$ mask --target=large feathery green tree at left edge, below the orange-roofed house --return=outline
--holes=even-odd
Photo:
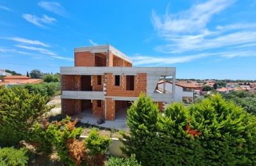
[[[26,89],[0,87],[0,146],[16,146],[29,137],[33,124],[54,107],[46,105],[49,101]]]

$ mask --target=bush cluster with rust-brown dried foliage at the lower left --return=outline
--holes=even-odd
[[[45,155],[56,149],[61,162],[65,165],[104,164],[105,153],[111,139],[99,137],[99,133],[93,129],[88,139],[79,141],[82,128],[76,128],[76,123],[77,119],[71,122],[70,117],[52,123],[44,120],[42,125],[35,124],[30,140],[36,145],[36,151]]]

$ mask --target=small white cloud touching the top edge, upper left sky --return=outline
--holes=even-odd
[[[51,11],[52,13],[56,13],[57,15],[61,15],[63,17],[67,15],[65,9],[61,6],[60,3],[42,1],[38,3],[38,5],[41,8],[44,8],[44,10]]]

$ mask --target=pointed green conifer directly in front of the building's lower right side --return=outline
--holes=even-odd
[[[145,145],[148,135],[156,135],[156,123],[158,119],[158,107],[152,102],[146,94],[140,94],[136,104],[127,110],[127,125],[130,128],[130,136],[122,133],[126,141],[121,140],[125,147],[121,147],[122,151],[131,156],[136,154],[140,158],[140,148]]]

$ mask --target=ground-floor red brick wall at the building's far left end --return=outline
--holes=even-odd
[[[61,99],[61,114],[74,116],[81,112],[81,100],[77,99]]]

